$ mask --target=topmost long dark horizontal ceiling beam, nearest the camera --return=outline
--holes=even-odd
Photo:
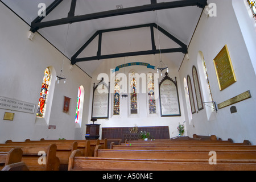
[[[183,0],[183,1],[171,1],[171,2],[163,2],[163,3],[151,3],[149,5],[137,6],[137,7],[128,7],[125,9],[118,10],[110,10],[104,11],[100,13],[79,15],[79,16],[71,16],[68,18],[50,20],[47,22],[32,22],[31,23],[31,31],[38,31],[40,28],[52,27],[61,24],[82,22],[86,20],[106,18],[111,16],[119,16],[119,15],[127,15],[134,13],[142,13],[146,11],[155,11],[155,10],[163,10],[163,9],[172,9],[177,7],[186,7],[186,6],[198,6],[204,8],[207,5],[207,0]]]

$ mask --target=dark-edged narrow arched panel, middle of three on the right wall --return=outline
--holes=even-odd
[[[199,84],[199,77],[198,77],[195,66],[193,66],[192,73],[193,73],[194,87],[196,92],[197,108],[198,110],[202,110],[204,109],[204,106],[203,106],[203,100],[202,100],[201,89]]]

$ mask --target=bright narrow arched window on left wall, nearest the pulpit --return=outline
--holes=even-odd
[[[75,122],[82,125],[82,107],[84,106],[84,87],[80,86],[77,95],[76,119]]]

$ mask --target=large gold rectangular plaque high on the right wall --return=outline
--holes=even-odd
[[[224,90],[237,81],[230,59],[228,46],[225,45],[224,48],[221,49],[213,62],[220,90]]]

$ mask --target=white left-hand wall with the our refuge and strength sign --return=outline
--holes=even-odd
[[[28,39],[30,27],[5,5],[0,3],[0,96],[38,104],[44,69],[53,68],[59,75],[63,56],[38,33]],[[56,84],[52,79],[50,91],[53,94],[49,119],[36,119],[34,114],[0,109],[0,143],[7,139],[84,139],[85,124],[88,119],[91,78],[80,68],[69,70],[70,61],[64,59],[64,75],[67,82]],[[82,129],[75,125],[77,91],[85,88],[84,115]],[[63,113],[64,96],[71,98],[69,113]],[[14,121],[3,120],[5,112],[14,113]],[[48,125],[56,125],[56,130],[48,130]]]

